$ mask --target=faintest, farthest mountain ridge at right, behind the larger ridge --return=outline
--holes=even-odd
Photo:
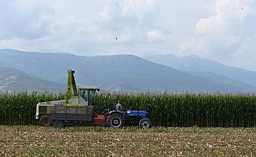
[[[234,68],[221,64],[214,60],[207,60],[196,55],[177,57],[173,54],[153,55],[142,57],[154,63],[163,64],[180,71],[210,72],[217,75],[224,75],[230,79],[245,82],[256,87],[256,71],[248,71],[243,68]],[[191,74],[191,73],[190,73]]]

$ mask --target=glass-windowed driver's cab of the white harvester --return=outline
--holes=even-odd
[[[78,90],[79,104],[93,105],[94,95],[99,91],[97,86],[81,86]]]

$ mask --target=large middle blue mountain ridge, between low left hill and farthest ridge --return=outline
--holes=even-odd
[[[13,49],[0,49],[0,54],[0,67],[16,68],[63,85],[66,85],[68,69],[71,68],[75,70],[78,86],[100,86],[101,91],[256,91],[255,87],[236,83],[236,80],[211,80],[133,55],[81,57],[68,53],[29,53]],[[55,87],[52,86],[53,89]]]

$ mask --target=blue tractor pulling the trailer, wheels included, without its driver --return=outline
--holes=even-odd
[[[134,125],[139,126],[141,129],[148,129],[152,127],[148,111],[139,111],[138,109],[135,111],[109,111],[107,124],[108,126],[115,128]]]

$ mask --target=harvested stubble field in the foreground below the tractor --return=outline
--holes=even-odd
[[[0,126],[1,156],[256,156],[256,128]]]

